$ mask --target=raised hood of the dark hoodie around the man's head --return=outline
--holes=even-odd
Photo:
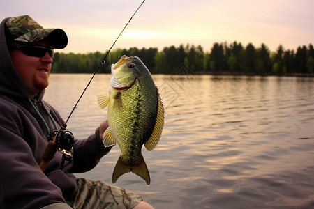
[[[0,94],[9,98],[27,99],[31,95],[14,68],[6,44],[6,20],[4,19],[0,24]],[[43,98],[44,92],[38,93],[38,100]]]

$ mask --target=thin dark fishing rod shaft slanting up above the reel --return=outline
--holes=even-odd
[[[145,0],[144,0],[145,1]],[[144,1],[142,1],[142,3],[140,4],[140,6],[137,8],[137,10],[135,10],[135,13],[133,13],[132,17],[130,17],[130,20],[128,20],[128,22],[126,23],[126,25],[124,26],[124,29],[126,29],[126,26],[128,26],[128,24],[131,22],[131,20],[133,19],[134,15],[137,13],[137,11],[140,9],[140,7],[142,6],[142,4],[144,3]],[[72,111],[70,112],[70,115],[68,116],[68,119],[66,119],[66,122],[64,122],[63,128],[66,128],[66,124],[68,123],[68,120],[70,119],[70,116],[72,116],[73,111],[77,108],[77,104],[80,102],[82,96],[84,95],[85,91],[87,90],[87,88],[89,87],[89,85],[91,85],[91,81],[94,79],[96,73],[98,72],[98,70],[100,69],[101,66],[103,66],[105,64],[105,59],[107,58],[110,50],[112,49],[112,47],[114,47],[114,45],[116,44],[117,40],[120,38],[121,34],[124,32],[124,29],[122,29],[122,31],[119,33],[119,36],[117,37],[116,40],[114,40],[112,46],[110,47],[110,49],[108,50],[108,52],[105,54],[105,56],[103,57],[103,60],[101,61],[101,63],[98,65],[98,68],[96,68],[96,71],[94,72],[94,75],[91,77],[91,79],[89,80],[89,83],[87,84],[87,86],[84,88],[84,91],[82,92],[82,94],[80,95],[80,98],[77,100],[75,106],[73,107]]]

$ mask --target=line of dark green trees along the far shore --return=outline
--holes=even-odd
[[[107,53],[107,52],[105,52]],[[52,72],[55,73],[94,73],[103,60],[105,53],[54,54]],[[214,75],[311,75],[314,68],[313,45],[300,46],[297,50],[285,50],[279,45],[276,52],[262,44],[255,47],[249,43],[244,47],[241,42],[214,43],[210,52],[202,46],[180,45],[157,48],[131,47],[115,49],[107,56],[100,72],[110,73],[110,65],[117,63],[122,55],[138,56],[154,74],[172,74],[182,63],[196,74]]]

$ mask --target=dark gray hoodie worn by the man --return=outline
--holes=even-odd
[[[47,164],[44,173],[40,170],[47,134],[55,129],[47,111],[57,128],[61,127],[63,119],[42,100],[44,91],[30,98],[11,62],[4,22],[0,24],[0,208],[70,208],[65,200],[77,190],[72,173],[94,168],[110,148],[103,146],[97,128],[87,139],[75,139],[73,160],[66,162],[63,170],[60,170],[62,154],[59,152]]]

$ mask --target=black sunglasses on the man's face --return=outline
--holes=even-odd
[[[43,57],[48,53],[51,58],[54,57],[54,49],[38,45],[10,45],[10,49],[22,49],[27,56]]]

